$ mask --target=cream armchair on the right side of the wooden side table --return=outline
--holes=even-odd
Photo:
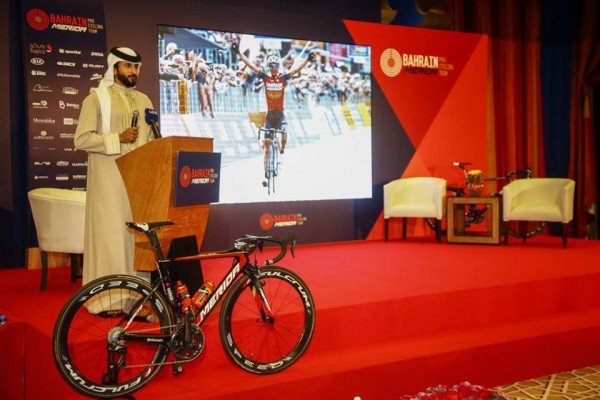
[[[575,181],[566,178],[517,179],[502,189],[502,219],[559,222],[563,247],[567,247],[568,223],[573,219]],[[525,237],[524,237],[525,239]],[[508,244],[508,235],[504,236]]]

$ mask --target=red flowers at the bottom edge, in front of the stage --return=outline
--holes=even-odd
[[[400,400],[509,400],[505,394],[483,386],[462,382],[452,387],[437,385],[418,394],[404,395]]]

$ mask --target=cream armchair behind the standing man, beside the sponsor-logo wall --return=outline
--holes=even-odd
[[[27,197],[42,256],[40,290],[46,290],[48,252],[71,254],[71,282],[75,282],[78,266],[82,265],[86,192],[39,188]]]

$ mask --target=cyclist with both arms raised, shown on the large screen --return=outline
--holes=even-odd
[[[264,128],[268,130],[265,134],[265,140],[263,141],[263,150],[265,154],[265,166],[269,155],[270,140],[273,139],[273,133],[270,129],[280,129],[282,131],[281,138],[281,150],[283,154],[285,145],[287,143],[287,123],[285,121],[285,115],[283,113],[283,100],[285,96],[285,88],[288,81],[292,76],[300,72],[302,68],[308,64],[309,61],[315,59],[318,55],[317,51],[312,51],[304,61],[302,61],[297,67],[291,69],[287,73],[280,73],[279,67],[281,66],[281,59],[279,56],[271,54],[267,56],[266,64],[269,73],[266,73],[254,65],[248,57],[240,52],[237,43],[231,44],[231,49],[240,57],[240,59],[250,68],[259,79],[264,82],[265,96],[267,99],[267,115],[265,118]]]

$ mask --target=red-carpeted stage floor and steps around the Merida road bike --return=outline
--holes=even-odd
[[[395,399],[434,384],[492,387],[600,363],[599,241],[536,237],[508,247],[432,238],[298,246],[280,264],[309,284],[317,327],[290,369],[256,376],[221,349],[217,315],[204,354],[163,368],[137,399]],[[204,265],[218,280],[218,265]],[[68,268],[0,271],[2,399],[80,398],[51,356],[54,321],[79,287]]]

